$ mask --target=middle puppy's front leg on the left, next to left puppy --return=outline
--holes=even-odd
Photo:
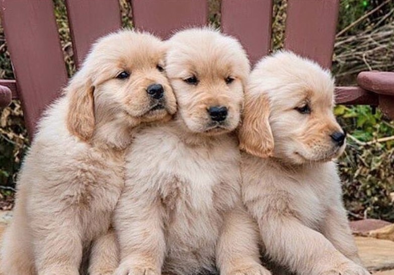
[[[159,275],[166,249],[160,200],[124,191],[114,225],[120,245],[115,274]]]

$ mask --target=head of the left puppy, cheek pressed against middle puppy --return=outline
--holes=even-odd
[[[169,119],[176,101],[164,73],[165,52],[164,42],[147,33],[99,39],[65,90],[69,131],[88,141],[106,122],[134,127]]]

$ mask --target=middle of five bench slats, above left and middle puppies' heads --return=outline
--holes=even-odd
[[[132,0],[131,3],[134,26],[163,39],[176,30],[207,24],[206,0]]]

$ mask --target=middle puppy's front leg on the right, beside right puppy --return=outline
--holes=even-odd
[[[271,275],[260,264],[259,235],[256,222],[241,207],[229,211],[216,248],[221,275]]]

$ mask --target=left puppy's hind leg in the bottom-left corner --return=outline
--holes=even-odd
[[[22,215],[17,205],[14,219],[7,229],[2,245],[2,259],[0,263],[3,275],[35,275],[34,256],[31,235],[26,216]]]

